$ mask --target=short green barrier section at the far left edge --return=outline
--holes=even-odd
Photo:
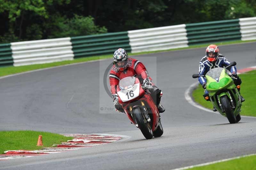
[[[12,49],[11,44],[0,44],[0,66],[12,66]]]

